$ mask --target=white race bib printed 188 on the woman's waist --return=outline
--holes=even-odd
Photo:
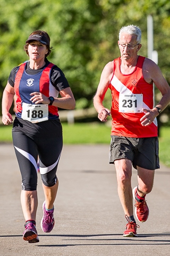
[[[48,120],[48,105],[47,104],[27,104],[22,103],[21,118],[31,123],[39,123]]]

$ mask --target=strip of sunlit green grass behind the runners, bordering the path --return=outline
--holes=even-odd
[[[68,125],[63,123],[63,138],[65,144],[109,144],[111,141],[111,127],[104,123],[75,123]],[[12,125],[0,126],[0,143],[12,142]],[[160,161],[170,167],[170,129],[162,127],[159,137]]]

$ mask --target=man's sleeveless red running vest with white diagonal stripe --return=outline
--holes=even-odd
[[[120,70],[121,58],[114,60],[113,76],[109,84],[112,92],[112,131],[111,135],[118,135],[132,138],[156,137],[157,119],[155,118],[149,126],[142,126],[140,118],[142,113],[122,113],[119,112],[119,95],[143,94],[143,108],[152,109],[154,107],[153,84],[145,81],[142,74],[142,66],[145,57],[139,56],[137,66],[131,74],[123,75]]]

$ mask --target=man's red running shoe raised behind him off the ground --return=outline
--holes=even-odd
[[[132,190],[133,198],[135,200],[135,216],[140,222],[145,222],[149,217],[149,208],[145,199],[142,202],[138,202],[137,199],[135,198],[137,188],[138,187],[134,187]]]

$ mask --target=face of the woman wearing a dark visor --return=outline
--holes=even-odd
[[[32,60],[41,60],[45,58],[48,53],[46,45],[40,43],[39,41],[32,41],[28,45],[29,57]]]

